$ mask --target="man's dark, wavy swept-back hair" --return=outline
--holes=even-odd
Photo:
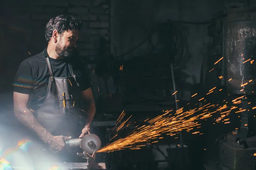
[[[49,42],[52,37],[53,30],[57,30],[59,34],[62,34],[67,30],[78,29],[80,31],[82,22],[72,15],[58,15],[49,20],[45,27],[45,38]]]

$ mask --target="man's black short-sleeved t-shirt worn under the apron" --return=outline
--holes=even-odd
[[[48,56],[46,49],[44,49],[44,53],[41,52],[21,62],[13,83],[15,92],[29,94],[29,108],[34,111],[38,109],[35,105],[43,104],[49,83],[50,74],[45,58],[45,54]],[[90,88],[90,79],[86,68],[77,59],[73,58],[70,61],[50,57],[49,59],[54,77],[72,77],[70,68],[70,64],[72,64],[77,82],[80,84],[80,91]]]

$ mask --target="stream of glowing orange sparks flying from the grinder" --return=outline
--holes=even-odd
[[[221,57],[223,59],[223,57]],[[214,64],[217,64],[219,61]],[[249,61],[249,60],[248,60]],[[254,60],[253,60],[254,61]],[[251,61],[251,64],[252,62]],[[213,68],[214,69],[214,68]],[[213,70],[212,69],[212,70]],[[209,72],[211,72],[210,70]],[[241,68],[240,68],[241,71]],[[220,79],[223,78],[223,76],[219,77]],[[249,82],[243,82],[244,79],[242,79],[241,83],[241,90],[243,90],[244,86],[248,83],[252,82],[250,80]],[[232,79],[229,79],[229,81],[232,81]],[[209,92],[206,95],[213,94],[213,91],[216,89],[216,87],[209,90]],[[221,91],[222,89],[219,89],[218,91]],[[177,92],[177,91],[176,91]],[[175,93],[176,93],[175,92]],[[192,95],[191,97],[196,96],[196,94]],[[228,94],[229,95],[229,94]],[[176,133],[178,133],[181,130],[185,130],[189,132],[190,130],[194,129],[195,127],[197,131],[195,131],[192,134],[203,134],[198,131],[198,128],[200,128],[199,123],[202,119],[207,119],[209,117],[212,117],[213,114],[218,114],[215,118],[215,122],[224,122],[224,124],[230,123],[230,118],[228,116],[230,113],[240,113],[246,111],[246,109],[238,108],[238,106],[234,106],[241,103],[241,98],[244,96],[241,96],[239,98],[236,98],[232,101],[232,104],[228,106],[228,102],[223,100],[222,103],[218,104],[211,104],[208,103],[204,105],[201,108],[195,108],[190,109],[189,111],[184,112],[183,108],[180,108],[176,111],[174,114],[169,114],[172,112],[172,110],[165,111],[164,114],[159,115],[155,117],[154,119],[146,119],[144,122],[146,122],[145,125],[138,127],[137,129],[133,130],[131,133],[129,133],[126,137],[116,140],[115,142],[112,142],[110,144],[107,144],[105,147],[101,148],[97,152],[113,152],[116,150],[124,150],[126,148],[130,148],[131,150],[137,150],[141,147],[145,146],[145,144],[152,144],[155,142],[158,142],[158,139],[162,139],[163,137],[160,137],[162,134],[166,134],[169,136],[174,136]],[[206,99],[201,98],[198,101],[201,101],[202,103],[206,102]],[[189,105],[189,103],[187,104]],[[256,106],[252,107],[252,109],[256,109]],[[212,110],[212,111],[210,111]],[[197,113],[200,111],[199,113]],[[249,111],[249,110],[248,110]],[[195,114],[197,113],[197,115]],[[125,116],[124,111],[121,113],[117,120],[117,124],[120,122],[120,120]],[[240,117],[240,116],[238,116]],[[130,119],[131,116],[128,118]],[[128,119],[125,121],[127,122]],[[116,132],[120,131],[123,127],[127,126],[125,125],[125,122],[122,123],[119,127],[117,127],[117,124],[114,129],[116,129]],[[130,122],[129,122],[130,123]],[[215,124],[215,123],[213,123]],[[116,128],[117,127],[117,128]],[[137,126],[136,126],[137,127]],[[238,129],[238,128],[236,128]],[[116,134],[117,136],[117,134]],[[115,138],[114,136],[113,138]],[[112,139],[113,139],[112,138]],[[178,138],[178,137],[176,137]],[[176,139],[175,138],[175,139]]]

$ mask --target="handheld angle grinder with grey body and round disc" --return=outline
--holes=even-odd
[[[80,147],[86,153],[94,153],[101,147],[101,141],[95,134],[87,134],[82,139],[70,139],[65,143],[69,147]]]

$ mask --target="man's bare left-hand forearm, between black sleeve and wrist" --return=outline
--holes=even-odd
[[[35,118],[33,113],[29,109],[15,109],[15,117],[23,125],[33,130],[45,143],[51,142],[53,136],[50,134]]]

